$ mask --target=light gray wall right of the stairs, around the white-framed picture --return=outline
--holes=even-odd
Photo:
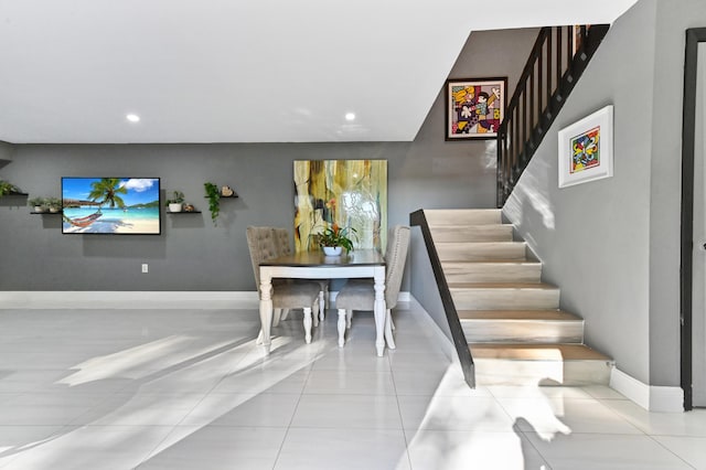
[[[616,21],[504,207],[587,343],[651,385],[680,384],[684,31],[698,24],[700,0],[642,0]],[[613,178],[557,189],[557,131],[608,104]]]

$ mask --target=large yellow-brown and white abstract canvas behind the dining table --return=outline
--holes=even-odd
[[[295,161],[295,249],[315,250],[312,235],[336,224],[354,232],[355,249],[385,250],[386,160]]]

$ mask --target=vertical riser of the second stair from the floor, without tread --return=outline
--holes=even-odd
[[[582,343],[582,321],[461,320],[469,343]]]

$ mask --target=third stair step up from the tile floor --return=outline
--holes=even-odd
[[[559,288],[544,282],[451,282],[457,310],[555,310]]]

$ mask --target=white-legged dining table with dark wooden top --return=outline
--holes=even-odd
[[[349,279],[373,278],[375,288],[375,349],[385,352],[385,258],[375,249],[356,249],[340,256],[324,256],[323,252],[299,252],[260,263],[260,322],[263,345],[269,353],[272,325],[272,278]]]

